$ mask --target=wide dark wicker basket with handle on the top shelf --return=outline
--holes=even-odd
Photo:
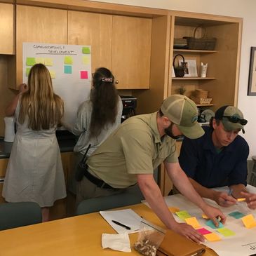
[[[203,29],[203,36],[196,38],[196,30],[201,27]],[[194,36],[184,36],[187,39],[187,48],[190,50],[214,50],[217,39],[215,37],[206,37],[206,28],[198,26],[194,30]]]

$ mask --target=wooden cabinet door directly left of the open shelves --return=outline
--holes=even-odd
[[[149,88],[151,19],[113,16],[112,72],[116,88]]]

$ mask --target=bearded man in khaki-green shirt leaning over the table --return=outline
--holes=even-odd
[[[154,170],[164,163],[170,179],[184,196],[216,224],[216,217],[225,221],[219,209],[208,206],[196,193],[178,163],[175,138],[203,135],[197,116],[193,101],[184,95],[172,95],[163,101],[159,112],[133,116],[123,122],[88,158],[88,170],[78,186],[78,201],[120,193],[137,183],[166,227],[196,242],[203,241],[203,236],[191,226],[174,220],[153,177]]]

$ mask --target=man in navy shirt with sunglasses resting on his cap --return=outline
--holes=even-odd
[[[217,109],[210,127],[196,139],[184,138],[180,151],[180,166],[187,173],[198,194],[220,206],[233,206],[236,198],[246,198],[248,207],[256,208],[256,195],[246,190],[249,147],[238,135],[247,120],[233,106]],[[229,193],[212,188],[229,186]]]

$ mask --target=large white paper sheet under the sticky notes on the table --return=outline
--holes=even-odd
[[[250,185],[247,186],[248,191],[256,194],[256,187],[252,187]],[[228,187],[217,188],[219,191],[229,191]],[[222,238],[221,241],[217,242],[209,242],[205,241],[205,244],[212,248],[217,252],[220,256],[248,256],[256,253],[256,227],[252,229],[247,229],[244,227],[241,219],[235,219],[234,217],[229,216],[229,213],[234,211],[239,211],[245,215],[252,213],[252,215],[256,218],[256,210],[250,210],[245,202],[236,203],[235,206],[231,206],[229,208],[223,208],[217,205],[214,201],[210,199],[204,199],[209,205],[220,208],[224,215],[227,216],[227,221],[224,224],[224,227],[227,227],[231,231],[236,233],[235,236],[225,237],[222,236],[216,229],[212,229],[206,225],[206,220],[204,220],[202,215],[202,210],[191,203],[187,198],[182,196],[182,194],[176,194],[173,196],[165,196],[165,201],[168,207],[178,207],[180,210],[187,210],[187,212],[196,217],[198,222],[202,227],[208,229],[216,233],[218,236]],[[142,203],[149,206],[146,201],[142,201]],[[175,214],[173,215],[177,222],[183,222],[177,217]]]

